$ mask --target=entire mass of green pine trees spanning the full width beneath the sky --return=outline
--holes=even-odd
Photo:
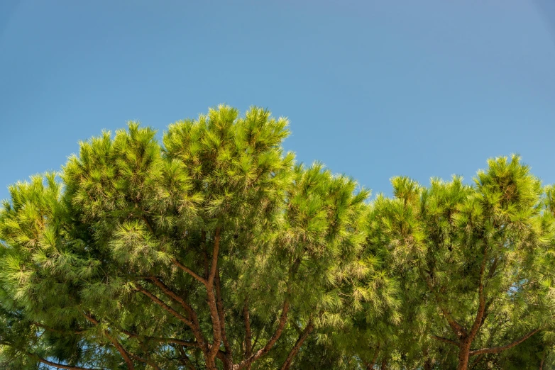
[[[392,198],[219,106],[80,142],[0,211],[9,369],[549,369],[555,188],[520,157]],[[554,367],[555,368],[555,367]]]

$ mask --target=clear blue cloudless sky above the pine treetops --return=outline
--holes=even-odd
[[[555,1],[0,1],[0,198],[127,120],[229,103],[374,193],[520,153],[555,183]]]

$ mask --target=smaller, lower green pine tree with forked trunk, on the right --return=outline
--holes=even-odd
[[[549,325],[553,214],[520,158],[490,159],[473,186],[460,177],[424,188],[392,179],[395,198],[373,207],[373,244],[387,245],[398,274],[428,306],[428,335],[456,348],[441,368],[467,369]],[[430,309],[431,308],[431,309]],[[451,362],[452,361],[452,362]]]

